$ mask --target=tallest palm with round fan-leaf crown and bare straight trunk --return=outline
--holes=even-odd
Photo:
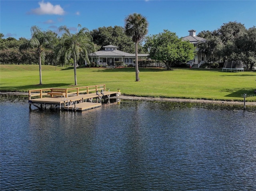
[[[138,68],[138,42],[143,39],[148,33],[148,21],[146,17],[141,14],[133,13],[128,15],[125,19],[125,33],[127,36],[132,37],[135,42],[135,72],[136,81],[140,81],[139,68]]]

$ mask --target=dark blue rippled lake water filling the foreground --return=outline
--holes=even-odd
[[[255,191],[256,112],[121,100],[84,112],[1,101],[0,190]]]

